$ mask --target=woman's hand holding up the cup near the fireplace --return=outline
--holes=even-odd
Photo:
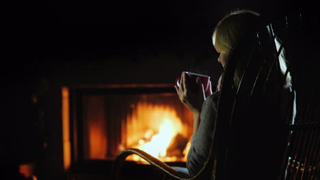
[[[183,72],[180,80],[180,88],[176,85],[176,93],[178,93],[181,102],[191,110],[194,115],[200,115],[202,104],[205,100],[204,88],[200,78],[196,79],[196,84],[192,85],[189,76]],[[196,87],[191,90],[191,87]]]

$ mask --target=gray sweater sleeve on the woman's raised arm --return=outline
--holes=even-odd
[[[213,141],[218,97],[219,92],[215,92],[207,97],[202,105],[198,131],[191,136],[191,147],[187,155],[187,169],[190,175],[196,175],[209,156],[210,145]]]

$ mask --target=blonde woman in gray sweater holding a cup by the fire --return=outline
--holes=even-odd
[[[222,20],[219,21],[215,31],[213,32],[213,46],[215,50],[219,52],[217,61],[222,64],[222,67],[226,67],[227,59],[232,50],[232,46],[237,44],[241,40],[241,36],[252,27],[252,22],[259,20],[259,14],[249,10],[238,10],[231,12]],[[249,27],[249,28],[248,28]],[[276,48],[278,49],[278,41],[276,40]],[[295,116],[295,104],[290,100],[291,98],[291,76],[290,73],[286,74],[286,61],[284,59],[283,50],[279,57],[279,66],[281,77],[285,78],[284,85],[279,87],[282,91],[282,101],[280,108],[291,106],[292,116],[287,117],[284,110],[280,112],[282,119],[293,119]],[[241,60],[239,62],[241,63]],[[271,66],[271,62],[267,62],[267,65]],[[272,79],[278,74],[265,74]],[[254,79],[255,77],[252,77]],[[235,85],[239,85],[241,75],[235,72]],[[193,82],[190,82],[186,74],[183,72],[181,76],[180,88],[176,87],[176,92],[181,102],[191,110],[194,115],[194,130],[191,136],[191,147],[187,155],[187,172],[189,175],[196,175],[200,169],[204,166],[204,162],[209,156],[209,149],[211,142],[213,141],[213,130],[215,127],[215,115],[217,114],[217,100],[219,97],[219,91],[211,94],[209,97],[205,97],[203,86],[200,78],[197,79],[198,92],[189,91]],[[275,89],[277,89],[275,87]],[[275,91],[278,91],[275,90]],[[277,97],[273,97],[276,99]],[[180,170],[180,169],[179,169]],[[209,174],[211,170],[208,170]]]

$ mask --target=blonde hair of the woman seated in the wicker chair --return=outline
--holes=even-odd
[[[236,10],[230,12],[222,20],[219,21],[215,27],[213,33],[213,46],[217,52],[229,53],[234,46],[241,38],[243,33],[249,31],[249,28],[252,28],[252,23],[257,22],[260,14],[251,10]],[[267,29],[271,33],[270,29]],[[276,50],[280,48],[280,42],[278,38],[274,38],[276,45]],[[282,48],[279,55],[280,70],[284,76],[286,72],[286,59],[284,57],[284,48]],[[288,72],[286,75],[286,80],[284,82],[284,87],[289,87],[291,85],[291,75]]]

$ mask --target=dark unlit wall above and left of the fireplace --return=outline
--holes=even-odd
[[[273,19],[314,7],[265,0],[10,2],[1,28],[8,175],[36,162],[46,179],[63,177],[62,86],[171,84],[183,71],[208,74],[215,86],[222,67],[211,34],[227,12],[245,8]]]

